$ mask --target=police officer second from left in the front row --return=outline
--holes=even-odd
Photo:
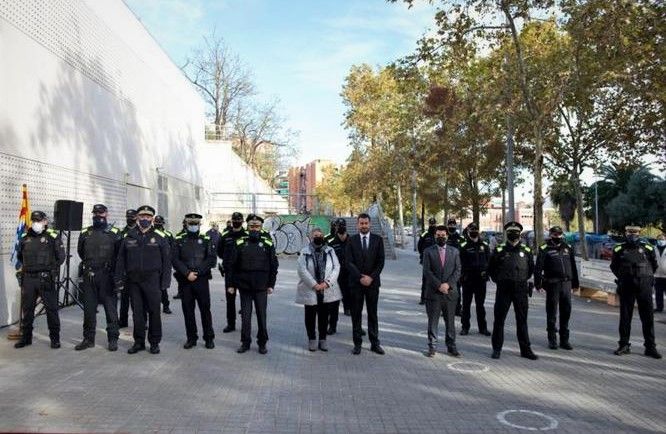
[[[120,229],[109,226],[107,208],[92,209],[92,226],[79,235],[77,251],[83,264],[83,341],[77,351],[95,346],[97,305],[104,306],[109,351],[118,349],[118,296],[113,285],[113,270],[120,247]]]

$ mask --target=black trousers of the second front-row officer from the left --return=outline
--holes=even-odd
[[[113,275],[109,270],[86,272],[83,278],[83,338],[95,342],[97,329],[97,306],[104,306],[106,315],[106,337],[117,341],[118,296],[113,289]]]

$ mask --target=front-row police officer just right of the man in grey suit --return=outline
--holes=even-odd
[[[523,231],[520,223],[509,222],[504,225],[504,230],[506,241],[495,248],[488,264],[488,275],[497,284],[492,358],[500,358],[504,344],[504,321],[513,303],[520,356],[536,360],[538,357],[532,352],[527,331],[527,280],[534,272],[532,249],[520,241],[520,233]]]

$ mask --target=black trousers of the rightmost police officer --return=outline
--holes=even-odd
[[[642,288],[621,288],[620,296],[620,346],[629,344],[631,336],[631,318],[634,315],[634,303],[638,304],[638,315],[643,326],[643,339],[645,348],[655,348],[654,341],[654,313],[652,311],[652,287],[645,285]]]

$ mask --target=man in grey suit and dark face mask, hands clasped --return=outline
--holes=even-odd
[[[425,282],[425,302],[428,312],[428,357],[437,351],[437,329],[439,316],[444,316],[446,324],[446,348],[448,353],[459,357],[456,348],[455,311],[460,298],[460,254],[458,249],[447,245],[446,226],[437,226],[436,244],[423,251],[423,280]]]

